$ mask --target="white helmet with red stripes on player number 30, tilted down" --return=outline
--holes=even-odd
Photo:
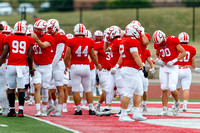
[[[157,30],[153,33],[153,42],[154,44],[161,45],[166,41],[165,33],[161,30]]]

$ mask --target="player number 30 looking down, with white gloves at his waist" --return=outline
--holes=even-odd
[[[184,48],[180,45],[178,37],[169,36],[166,38],[165,33],[157,30],[153,34],[154,48],[156,49],[156,63],[160,65],[159,79],[162,90],[163,111],[160,116],[168,115],[168,89],[174,100],[175,107],[173,115],[179,114],[180,102],[179,94],[176,90],[178,82],[178,64],[177,62],[186,56]],[[180,54],[179,54],[180,52]]]

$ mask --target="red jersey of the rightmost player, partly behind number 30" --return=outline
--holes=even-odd
[[[178,61],[178,65],[191,65],[192,58],[196,55],[196,49],[193,46],[181,44],[185,49],[186,56]]]

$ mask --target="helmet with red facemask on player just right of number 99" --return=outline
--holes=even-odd
[[[47,30],[47,22],[40,19],[38,21],[35,22],[34,26],[33,26],[33,31],[34,33],[41,37],[46,33]]]

